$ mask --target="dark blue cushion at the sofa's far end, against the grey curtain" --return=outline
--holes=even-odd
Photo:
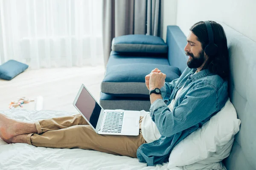
[[[162,38],[143,34],[123,35],[113,38],[111,49],[130,53],[167,53],[167,45]]]

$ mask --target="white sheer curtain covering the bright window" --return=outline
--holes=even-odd
[[[102,0],[0,0],[0,63],[103,64]]]

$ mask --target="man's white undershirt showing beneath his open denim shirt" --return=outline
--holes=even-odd
[[[170,109],[170,111],[173,110],[175,100],[177,99],[177,96],[179,96],[180,91],[182,91],[184,85],[177,91],[175,97],[172,99],[172,102],[168,105],[168,108]],[[141,116],[143,116],[142,111],[141,111]],[[160,132],[157,129],[156,124],[151,119],[151,116],[150,116],[149,112],[146,112],[145,116],[142,119],[141,133],[142,133],[142,136],[145,139],[145,141],[148,142],[148,143],[153,142],[153,141],[155,141],[155,140],[157,140],[161,137]]]

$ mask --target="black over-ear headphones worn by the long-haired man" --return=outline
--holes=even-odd
[[[204,48],[204,52],[207,54],[207,56],[213,56],[217,53],[218,46],[214,43],[211,23],[209,21],[204,21],[204,23],[206,25],[209,38],[209,44],[207,44]]]

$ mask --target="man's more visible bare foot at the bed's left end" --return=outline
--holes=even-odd
[[[9,119],[3,114],[0,114],[0,138],[7,143],[12,143],[11,139],[14,136],[23,134],[23,124],[23,122]]]

